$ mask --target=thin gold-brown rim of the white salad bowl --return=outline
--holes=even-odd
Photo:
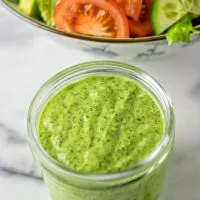
[[[8,0],[0,0],[0,4],[5,7],[10,13],[14,14],[15,16],[19,17],[20,19],[32,24],[33,26],[45,30],[50,33],[55,33],[60,36],[66,36],[71,39],[79,39],[79,40],[86,40],[91,42],[99,42],[99,43],[143,43],[143,42],[153,42],[153,41],[164,41],[166,40],[165,35],[158,35],[158,36],[148,36],[148,37],[140,37],[140,38],[129,38],[129,39],[116,39],[116,38],[101,38],[101,37],[94,37],[94,36],[87,36],[83,34],[77,33],[66,33],[59,31],[53,27],[48,26],[47,24],[39,21],[33,17],[26,16],[18,9],[16,9],[16,5]],[[200,25],[195,26],[197,30],[200,30]]]

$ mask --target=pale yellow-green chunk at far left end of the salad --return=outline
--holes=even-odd
[[[20,0],[19,9],[28,16],[38,17],[39,10],[36,0]]]

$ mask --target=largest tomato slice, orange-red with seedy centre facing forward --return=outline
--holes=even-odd
[[[54,21],[65,32],[129,38],[128,19],[115,0],[60,0]]]

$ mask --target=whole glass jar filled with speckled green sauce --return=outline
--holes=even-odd
[[[157,200],[174,113],[163,88],[140,69],[88,62],[44,84],[28,133],[52,200]]]

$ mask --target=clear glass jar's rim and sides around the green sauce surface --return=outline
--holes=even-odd
[[[38,142],[38,116],[45,102],[63,86],[91,75],[120,75],[133,79],[153,95],[163,112],[166,126],[160,144],[131,169],[110,174],[76,173],[57,164]],[[30,147],[53,200],[156,200],[164,185],[174,127],[173,107],[164,89],[144,71],[112,61],[82,63],[61,71],[41,87],[28,114]]]

